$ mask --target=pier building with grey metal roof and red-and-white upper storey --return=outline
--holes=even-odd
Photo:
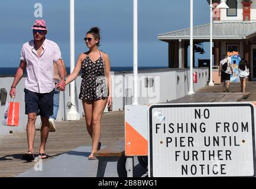
[[[251,65],[250,79],[256,80],[256,0],[227,0],[229,9],[216,9],[221,1],[212,2],[213,65],[218,66],[228,51],[239,51]],[[200,44],[210,40],[210,24],[194,27],[193,35],[194,53],[200,52]],[[159,34],[157,38],[168,43],[168,67],[187,67],[190,29]]]

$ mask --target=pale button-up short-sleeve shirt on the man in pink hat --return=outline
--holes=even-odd
[[[59,46],[51,40],[44,40],[40,57],[34,48],[34,40],[22,45],[21,60],[27,63],[25,89],[36,93],[49,93],[54,89],[53,64],[61,58]]]

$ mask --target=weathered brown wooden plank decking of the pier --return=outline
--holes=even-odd
[[[247,83],[247,92],[250,95],[241,101],[256,101],[256,82]],[[239,95],[239,83],[231,83],[230,94]],[[207,95],[206,93],[210,94]],[[213,98],[218,100],[220,97],[228,95],[222,93],[222,85],[213,87],[206,86],[199,90],[194,99],[185,97],[193,102],[202,102],[200,95],[204,95],[206,102],[213,102]],[[196,101],[198,99],[199,101]],[[118,138],[124,137],[124,111],[105,113],[102,117],[102,146],[106,146]],[[35,136],[34,152],[37,153],[40,144],[40,131]],[[44,159],[48,161],[70,151],[78,146],[91,145],[91,139],[86,131],[85,119],[77,121],[57,122],[56,132],[50,132],[47,140],[46,152],[51,157]],[[25,162],[21,160],[22,154],[27,151],[27,136],[24,132],[15,132],[9,135],[0,136],[0,177],[14,177],[30,168],[34,167],[35,162]]]

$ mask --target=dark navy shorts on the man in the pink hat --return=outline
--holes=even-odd
[[[53,115],[53,93],[35,93],[28,89],[25,92],[25,114],[37,113],[37,116],[50,117]]]

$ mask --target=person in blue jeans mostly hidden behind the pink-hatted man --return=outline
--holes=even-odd
[[[63,60],[61,60],[61,63],[63,64],[64,68],[65,68],[65,77],[67,76],[67,70],[66,70],[66,66],[63,62]],[[58,73],[58,67],[57,64],[54,64],[54,83],[58,84],[60,82],[60,76]],[[55,88],[54,89],[54,94],[53,94],[53,115],[50,116],[49,118],[49,123],[50,123],[50,132],[55,132],[56,131],[56,124],[55,124],[55,120],[57,118],[57,114],[59,111],[59,103],[60,103],[60,90]]]

